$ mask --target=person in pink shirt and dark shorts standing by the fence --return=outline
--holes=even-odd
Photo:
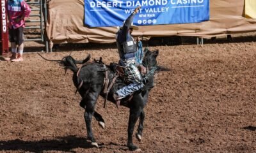
[[[5,60],[20,62],[23,61],[23,29],[25,27],[25,17],[29,17],[31,9],[24,0],[8,0],[7,7],[9,40],[11,42],[12,56],[5,58]]]

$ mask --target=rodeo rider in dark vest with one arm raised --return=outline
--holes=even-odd
[[[124,66],[126,79],[131,84],[119,89],[113,94],[113,98],[116,101],[116,107],[120,105],[120,100],[126,96],[132,94],[135,91],[140,90],[143,87],[142,77],[138,67],[143,73],[145,73],[145,67],[139,64],[135,60],[137,46],[136,41],[132,38],[132,31],[138,30],[138,27],[132,24],[133,17],[140,10],[141,6],[138,6],[131,15],[125,20],[124,25],[120,27],[120,30],[116,33],[116,45],[119,53],[120,66]]]

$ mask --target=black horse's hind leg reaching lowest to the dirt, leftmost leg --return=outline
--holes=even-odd
[[[95,104],[98,98],[97,92],[89,92],[84,100],[86,101],[86,108],[84,113],[84,120],[86,123],[87,139],[92,142],[92,145],[99,147],[95,141],[92,131],[92,116],[94,113]]]

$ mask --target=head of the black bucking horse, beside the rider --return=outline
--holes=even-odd
[[[156,58],[159,54],[159,50],[150,51],[148,48],[145,48],[144,52],[143,66],[147,68],[147,74],[145,76],[147,88],[152,89],[154,87],[154,75],[158,69]]]

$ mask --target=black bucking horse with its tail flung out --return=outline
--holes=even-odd
[[[159,69],[159,66],[157,66],[157,55],[159,54],[159,51],[150,51],[148,48],[145,48],[144,52],[143,66],[147,68],[144,81],[145,85],[140,91],[134,92],[131,96],[120,101],[121,106],[126,106],[130,110],[127,129],[127,147],[129,150],[140,150],[133,144],[132,134],[136,121],[140,119],[137,129],[138,131],[135,136],[139,142],[141,141],[143,122],[145,119],[143,108],[145,108],[145,105],[147,104],[150,90],[154,87],[154,75]],[[44,58],[42,55],[40,56]],[[115,67],[112,66],[113,64],[108,66],[102,62],[101,58],[99,60],[90,61],[90,54],[83,61],[76,61],[70,55],[64,57],[62,60],[45,60],[56,61],[60,66],[63,66],[66,71],[67,69],[70,69],[74,72],[73,82],[77,89],[76,92],[79,92],[82,98],[80,106],[85,109],[84,120],[86,122],[87,139],[92,142],[93,146],[99,147],[93,136],[92,117],[95,117],[103,129],[105,128],[105,122],[102,116],[95,111],[97,99],[99,96],[102,96],[103,98],[108,99],[108,101],[115,103],[113,94],[118,91],[118,89],[127,85],[127,83],[124,82],[124,78],[116,77],[117,72],[115,71],[115,68],[113,68]],[[80,68],[77,68],[77,64],[83,65]],[[113,81],[114,79],[115,81]],[[107,87],[106,82],[110,83]]]

